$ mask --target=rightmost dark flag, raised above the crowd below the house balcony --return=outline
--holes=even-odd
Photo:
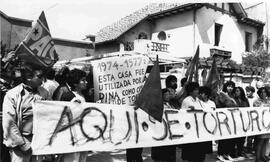
[[[211,67],[211,69],[209,71],[209,75],[206,79],[205,86],[210,87],[212,89],[213,93],[216,93],[219,89],[220,77],[219,77],[219,73],[217,70],[217,63],[216,63],[215,58],[213,58],[212,67]]]

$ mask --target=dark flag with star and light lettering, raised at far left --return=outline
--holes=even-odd
[[[26,63],[42,68],[51,67],[58,60],[43,11],[31,31],[15,50],[15,55]]]

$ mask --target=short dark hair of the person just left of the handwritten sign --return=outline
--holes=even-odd
[[[83,77],[86,77],[85,71],[79,69],[73,69],[70,71],[67,82],[71,87],[71,90],[75,89],[75,84],[78,84]]]

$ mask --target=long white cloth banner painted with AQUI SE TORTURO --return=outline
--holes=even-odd
[[[131,106],[40,101],[33,105],[33,154],[184,144],[269,133],[270,108],[213,112],[165,109],[159,123]]]

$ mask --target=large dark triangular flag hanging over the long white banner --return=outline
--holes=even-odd
[[[157,60],[135,101],[135,105],[157,121],[161,122],[164,107],[158,62],[159,60],[157,56]]]

